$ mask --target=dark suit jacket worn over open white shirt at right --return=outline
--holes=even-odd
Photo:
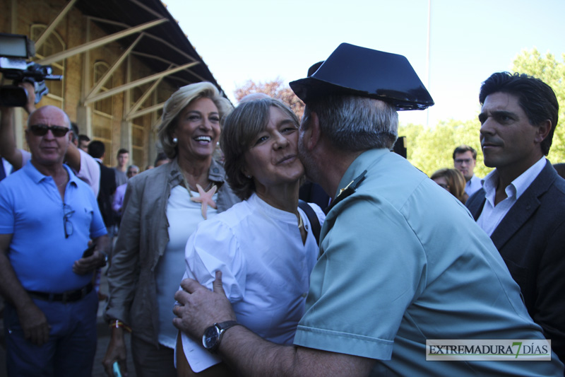
[[[477,220],[484,190],[465,205]],[[530,316],[565,361],[565,180],[549,161],[491,239],[520,286]]]

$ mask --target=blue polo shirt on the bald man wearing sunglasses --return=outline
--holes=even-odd
[[[28,291],[61,293],[88,284],[92,274],[75,274],[73,263],[90,238],[106,234],[93,191],[64,168],[64,201],[53,178],[31,161],[0,182],[0,234],[12,234],[8,258]]]

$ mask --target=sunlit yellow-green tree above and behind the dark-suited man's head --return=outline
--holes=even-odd
[[[551,86],[559,101],[559,122],[553,136],[552,148],[549,150],[549,161],[565,162],[565,54],[561,54],[561,62],[553,54],[547,52],[542,56],[535,48],[523,50],[516,56],[512,70],[521,74],[529,74],[541,79]]]

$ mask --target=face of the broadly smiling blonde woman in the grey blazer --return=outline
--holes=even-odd
[[[206,159],[220,139],[220,113],[210,98],[198,98],[179,114],[172,137],[178,139],[179,157]]]

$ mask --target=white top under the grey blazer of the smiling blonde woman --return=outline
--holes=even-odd
[[[193,197],[200,196],[192,192]],[[218,199],[218,193],[212,199]],[[208,219],[218,214],[217,209],[208,206]],[[169,242],[165,253],[161,255],[155,268],[155,284],[157,286],[157,306],[159,311],[159,343],[174,348],[179,330],[172,324],[175,315],[172,313],[174,294],[179,289],[179,282],[184,274],[184,248],[186,240],[204,221],[201,203],[191,201],[189,192],[181,185],[171,189],[167,202],[167,221],[169,223]]]

